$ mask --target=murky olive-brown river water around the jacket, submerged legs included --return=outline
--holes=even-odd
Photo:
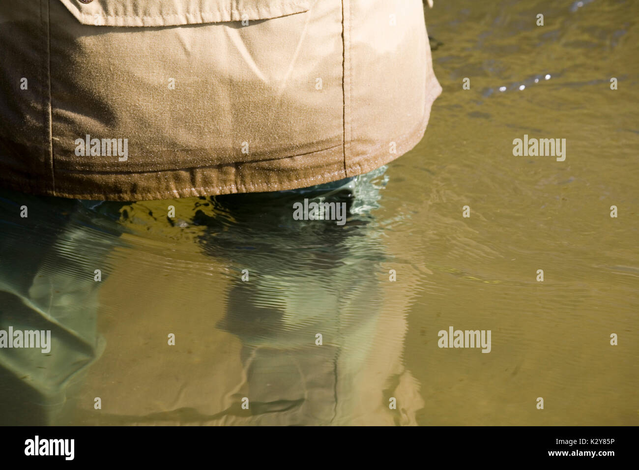
[[[336,191],[3,193],[0,329],[52,344],[0,350],[0,421],[639,424],[638,13],[436,1],[426,136]],[[566,160],[514,156],[524,134]],[[344,226],[292,219],[318,194]],[[438,347],[451,326],[490,330],[490,352]]]

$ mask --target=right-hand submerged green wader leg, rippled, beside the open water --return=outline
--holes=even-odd
[[[249,274],[240,282],[238,272],[218,327],[242,341],[243,375],[233,397],[249,398],[252,416],[235,413],[225,423],[399,422],[382,396],[385,389],[396,395],[399,357],[367,363],[371,348],[385,347],[373,340],[385,303],[374,273],[386,255],[368,210],[376,207],[384,170],[305,191],[218,196],[210,210],[196,212],[206,253]],[[345,203],[346,226],[293,220],[293,203],[302,198]],[[401,342],[405,328],[404,319],[387,322],[387,343]],[[376,373],[364,378],[370,368]],[[362,400],[364,388],[378,393]],[[400,403],[402,421],[414,423],[419,400]]]

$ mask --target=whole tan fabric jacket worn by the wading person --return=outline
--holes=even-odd
[[[441,92],[420,0],[2,2],[0,43],[0,185],[52,196],[339,180],[417,144]]]

